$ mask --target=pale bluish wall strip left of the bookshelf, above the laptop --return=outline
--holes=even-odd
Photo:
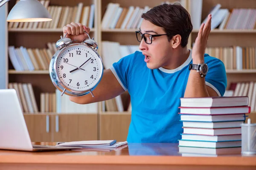
[[[7,88],[7,74],[8,68],[6,55],[7,55],[7,4],[0,7],[0,89]]]

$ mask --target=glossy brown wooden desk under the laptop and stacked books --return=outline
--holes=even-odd
[[[256,170],[254,156],[184,157],[177,144],[128,144],[120,150],[0,150],[0,170]]]

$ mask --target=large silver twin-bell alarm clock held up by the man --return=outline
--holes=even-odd
[[[52,83],[62,92],[61,96],[83,96],[90,93],[94,97],[92,91],[103,75],[102,59],[96,52],[98,45],[89,34],[81,43],[73,43],[76,40],[66,35],[56,42],[58,51],[49,65]]]

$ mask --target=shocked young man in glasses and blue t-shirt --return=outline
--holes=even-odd
[[[185,8],[163,4],[142,17],[140,31],[136,32],[142,52],[123,57],[104,71],[93,91],[95,97],[70,96],[70,100],[80,104],[99,102],[128,90],[132,113],[127,141],[178,142],[183,132],[178,114],[180,97],[223,96],[227,86],[224,64],[204,54],[211,15],[201,25],[192,51],[186,47],[192,23]],[[71,23],[63,32],[81,41],[86,37],[83,29],[90,31],[80,23]]]

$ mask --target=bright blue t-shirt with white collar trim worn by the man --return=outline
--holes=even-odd
[[[149,69],[142,52],[123,57],[113,63],[111,71],[120,85],[131,96],[131,123],[128,130],[129,143],[177,143],[183,133],[180,121],[180,97],[184,96],[189,77],[192,51],[186,62],[178,68]],[[221,60],[204,55],[209,71],[206,85],[223,96],[227,77]]]

